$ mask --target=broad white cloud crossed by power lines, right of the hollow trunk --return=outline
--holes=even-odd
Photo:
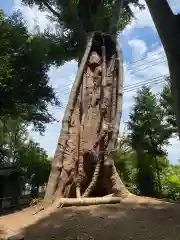
[[[133,40],[131,40],[133,41]],[[143,44],[142,44],[143,45]],[[134,44],[134,51],[139,51],[139,45]],[[125,90],[124,108],[130,108],[133,104],[133,95],[143,85],[149,83],[155,93],[160,92],[164,85],[163,76],[168,75],[167,60],[162,47],[156,47],[148,52],[142,61],[124,65]],[[157,82],[159,77],[159,82]],[[130,85],[134,87],[129,88]],[[140,85],[139,85],[140,84]],[[128,90],[130,89],[130,91]]]

